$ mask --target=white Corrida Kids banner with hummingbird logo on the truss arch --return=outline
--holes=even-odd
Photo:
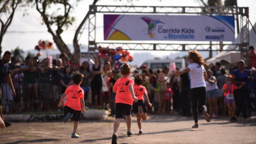
[[[104,15],[104,40],[235,41],[234,16]]]

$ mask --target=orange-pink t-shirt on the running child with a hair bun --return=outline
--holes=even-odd
[[[129,92],[129,85],[133,86],[134,81],[127,77],[121,77],[116,81],[113,87],[113,90],[116,91],[116,103],[132,105],[133,99]]]

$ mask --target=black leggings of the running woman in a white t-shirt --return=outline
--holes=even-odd
[[[193,116],[195,123],[198,122],[197,116],[198,116],[198,106],[202,111],[207,111],[207,108],[205,106],[206,104],[206,88],[205,87],[197,87],[190,89],[190,97],[192,101],[192,110],[193,110]]]

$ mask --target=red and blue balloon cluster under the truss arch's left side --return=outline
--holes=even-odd
[[[116,50],[107,48],[102,48],[101,46],[98,47],[99,55],[102,58],[112,57],[113,60],[121,59],[122,62],[132,61],[133,55],[130,55],[130,52],[127,50],[123,50],[122,47],[117,47]]]

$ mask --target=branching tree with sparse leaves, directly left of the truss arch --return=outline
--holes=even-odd
[[[76,1],[78,2],[80,0]],[[41,14],[43,22],[48,32],[52,35],[53,41],[58,49],[61,53],[65,52],[68,57],[72,58],[72,53],[60,36],[63,28],[67,29],[75,21],[75,17],[70,16],[73,6],[69,2],[70,0],[35,0],[36,10]],[[46,12],[51,6],[57,5],[64,7],[64,13],[62,15],[59,14],[60,8],[51,12],[51,14]],[[53,29],[54,27],[56,27],[56,30]]]

